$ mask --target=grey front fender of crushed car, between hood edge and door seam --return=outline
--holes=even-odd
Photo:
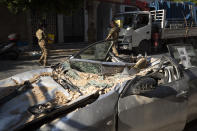
[[[101,95],[94,103],[76,109],[65,117],[42,126],[39,130],[111,130],[115,126],[115,107],[119,97],[117,88],[120,88],[120,86],[107,94]]]

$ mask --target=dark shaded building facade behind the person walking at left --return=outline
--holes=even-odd
[[[55,43],[94,42],[107,36],[109,23],[114,14],[124,11],[123,4],[133,4],[130,0],[84,0],[84,6],[77,12],[47,14],[47,33],[55,35]],[[21,41],[36,45],[35,32],[40,19],[39,12],[11,14],[6,7],[0,7],[0,41],[6,41],[10,33],[18,33]]]

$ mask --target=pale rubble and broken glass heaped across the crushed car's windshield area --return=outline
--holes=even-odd
[[[89,95],[103,89],[102,94],[105,94],[111,91],[117,84],[122,84],[124,81],[134,78],[136,75],[146,75],[150,70],[151,68],[142,69],[135,75],[115,74],[111,76],[101,76],[93,73],[79,72],[72,69],[68,62],[65,62],[62,66],[54,68],[52,76],[59,84],[63,85],[62,80],[65,80],[79,90],[73,91],[67,88],[66,90],[69,92],[69,98],[65,98],[63,102],[62,98],[59,96],[56,96],[55,99],[59,101],[57,102],[58,104],[66,105],[82,95]]]

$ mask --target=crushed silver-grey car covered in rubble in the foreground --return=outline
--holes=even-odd
[[[1,80],[0,130],[180,131],[197,118],[191,45],[171,45],[170,56],[145,57],[138,69],[111,46],[97,42],[51,68]]]

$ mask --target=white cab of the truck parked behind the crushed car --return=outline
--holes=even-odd
[[[120,13],[113,20],[119,25],[119,49],[150,51],[152,16],[149,11]]]

